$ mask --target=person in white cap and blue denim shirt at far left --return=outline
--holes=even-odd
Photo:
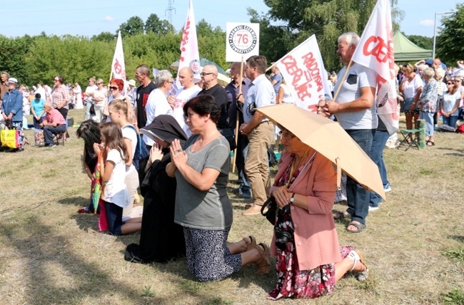
[[[6,85],[8,85],[8,91],[5,92],[3,103],[1,103],[1,115],[5,119],[6,127],[19,130],[19,148],[15,151],[23,151],[23,95],[18,90],[16,78],[9,78]]]

